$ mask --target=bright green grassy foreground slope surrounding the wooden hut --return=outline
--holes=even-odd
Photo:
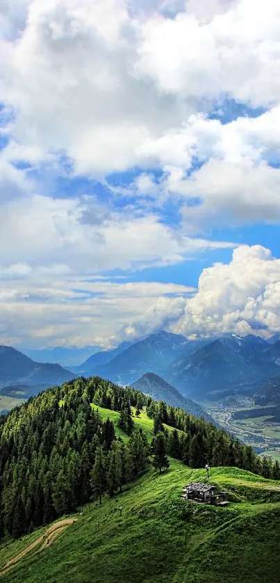
[[[117,422],[102,411],[108,414]],[[236,502],[222,509],[181,500],[183,485],[204,474],[175,460],[161,475],[149,468],[116,499],[85,506],[79,522],[1,580],[39,583],[44,573],[50,583],[277,583],[280,482],[213,468],[211,482]],[[6,556],[21,544],[7,545]],[[1,546],[0,560],[3,566]]]

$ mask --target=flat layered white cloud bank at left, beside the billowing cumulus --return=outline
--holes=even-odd
[[[151,330],[170,319],[173,321],[175,314],[177,318],[183,313],[183,298],[194,292],[183,285],[157,282],[60,278],[51,284],[47,287],[48,280],[42,279],[35,285],[30,280],[16,280],[13,285],[10,282],[3,286],[1,344],[111,346],[122,338],[145,335],[146,321]],[[172,316],[168,315],[171,313]]]

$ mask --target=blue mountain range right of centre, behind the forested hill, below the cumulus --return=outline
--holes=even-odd
[[[107,359],[101,362],[99,358]],[[96,364],[96,363],[99,364]],[[280,375],[280,341],[271,344],[256,335],[228,335],[216,339],[187,340],[165,331],[96,353],[81,367],[123,385],[152,372],[195,401],[219,399],[250,384]],[[77,369],[76,372],[79,372]],[[252,394],[252,391],[249,391]]]

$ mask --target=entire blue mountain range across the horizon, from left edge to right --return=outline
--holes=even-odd
[[[256,335],[188,340],[162,330],[145,340],[123,342],[112,350],[96,352],[82,365],[71,367],[71,372],[0,346],[1,394],[17,394],[17,385],[27,385],[30,390],[24,392],[29,396],[74,376],[101,376],[131,385],[147,373],[162,377],[183,397],[200,403],[236,393],[251,397],[258,395],[261,387],[264,393],[271,390],[273,378],[280,378],[280,340],[276,336],[274,342],[268,342]]]

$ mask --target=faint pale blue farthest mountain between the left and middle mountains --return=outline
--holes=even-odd
[[[59,362],[63,367],[79,367],[85,358],[98,350],[99,346],[85,346],[85,348],[54,346],[49,349],[22,349],[22,352],[35,362]]]

